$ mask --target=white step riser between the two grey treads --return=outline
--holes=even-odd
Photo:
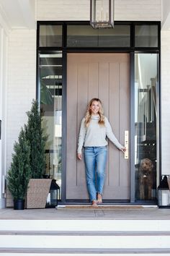
[[[143,236],[135,235],[103,235],[94,234],[82,235],[82,234],[66,234],[66,235],[0,235],[1,246],[0,247],[14,247],[14,248],[164,248],[169,249],[170,252],[170,235],[149,235]]]

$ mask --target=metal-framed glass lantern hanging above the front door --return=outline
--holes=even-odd
[[[94,28],[114,27],[114,0],[90,0],[90,25]]]

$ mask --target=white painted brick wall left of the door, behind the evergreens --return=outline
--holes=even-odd
[[[27,121],[36,90],[36,31],[12,30],[9,34],[7,88],[7,168],[14,141]]]

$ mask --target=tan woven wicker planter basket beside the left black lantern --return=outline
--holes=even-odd
[[[45,208],[51,179],[30,179],[27,189],[26,208]]]

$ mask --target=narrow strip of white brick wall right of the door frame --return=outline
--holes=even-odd
[[[170,31],[161,31],[162,172],[170,174]]]

